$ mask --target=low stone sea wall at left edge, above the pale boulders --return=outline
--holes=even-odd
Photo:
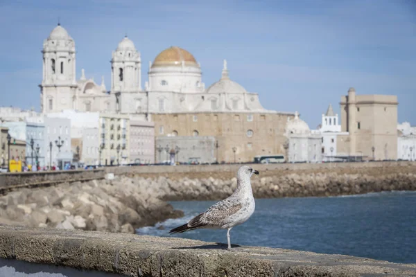
[[[0,190],[103,179],[104,175],[105,171],[102,169],[3,173],[0,174]]]

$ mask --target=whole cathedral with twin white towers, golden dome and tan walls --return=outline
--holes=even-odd
[[[225,60],[218,82],[206,88],[196,58],[171,46],[149,63],[143,85],[140,53],[124,37],[112,52],[107,90],[104,80],[96,84],[85,78],[84,70],[76,79],[75,42],[60,24],[44,40],[42,54],[42,113],[106,111],[153,121],[156,139],[210,137],[212,161],[218,162],[247,162],[256,155],[285,152],[286,123],[295,114],[264,109],[257,93],[230,79]]]

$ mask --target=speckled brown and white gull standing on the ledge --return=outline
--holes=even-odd
[[[195,229],[227,229],[228,249],[231,249],[231,235],[229,231],[234,226],[247,221],[254,213],[254,202],[250,177],[259,175],[250,166],[241,166],[237,172],[237,188],[228,198],[212,205],[204,213],[200,213],[187,224],[176,227],[169,233],[183,233]]]

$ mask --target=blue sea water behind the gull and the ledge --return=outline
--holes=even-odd
[[[224,230],[168,235],[171,228],[214,203],[171,202],[184,211],[184,217],[137,229],[137,233],[227,243]],[[165,229],[157,229],[160,225]],[[256,211],[232,229],[231,242],[416,263],[416,192],[256,199]]]

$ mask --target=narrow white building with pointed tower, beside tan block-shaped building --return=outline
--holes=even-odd
[[[327,112],[322,114],[319,131],[322,135],[322,161],[337,161],[337,136],[347,135],[348,132],[341,132],[338,114],[333,112],[331,104],[329,104]]]

